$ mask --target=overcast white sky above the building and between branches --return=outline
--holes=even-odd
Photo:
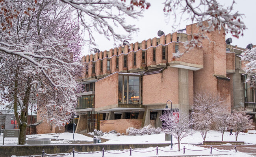
[[[167,19],[163,14],[163,4],[161,4],[162,0],[148,0],[151,4],[151,7],[144,12],[144,17],[139,18],[139,20],[129,20],[130,24],[135,24],[136,27],[139,28],[139,32],[134,33],[133,39],[129,41],[130,43],[141,42],[142,40],[147,40],[148,38],[158,37],[157,32],[161,30],[165,32],[165,34],[173,33],[172,26],[177,25],[174,23],[172,17]],[[220,0],[221,2],[221,0]],[[230,5],[232,0],[222,0],[221,3],[226,3],[225,5]],[[252,43],[253,45],[256,44],[254,38],[256,37],[256,22],[254,20],[256,15],[256,1],[255,0],[236,0],[234,5],[234,10],[239,11],[239,13],[243,13],[245,16],[243,18],[243,22],[247,29],[244,31],[244,36],[239,37],[239,39],[232,37],[230,35],[226,35],[226,38],[231,37],[233,42],[232,45],[237,45],[238,47],[246,47],[248,44]],[[185,18],[184,18],[185,19]],[[165,21],[169,20],[167,24]],[[177,27],[178,29],[184,29],[186,25],[191,24],[191,22],[181,21],[180,26]],[[85,37],[86,38],[86,37]],[[96,44],[98,44],[98,49],[100,51],[109,50],[114,47],[114,42],[109,41],[103,37],[103,35],[96,35],[95,36]],[[121,44],[118,43],[118,44]],[[88,51],[88,47],[84,46],[82,49],[82,54],[87,55],[93,52]]]

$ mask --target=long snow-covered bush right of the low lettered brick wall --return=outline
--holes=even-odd
[[[143,128],[136,129],[136,128],[127,128],[126,135],[151,135],[151,134],[160,134],[161,128],[155,128],[151,124],[148,126],[144,126]]]

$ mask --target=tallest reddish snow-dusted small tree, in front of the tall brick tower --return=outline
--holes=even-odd
[[[200,131],[205,141],[207,133],[213,126],[213,119],[221,110],[225,110],[223,100],[218,95],[208,91],[195,93],[194,96],[194,128]]]

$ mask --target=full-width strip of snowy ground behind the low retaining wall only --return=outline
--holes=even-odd
[[[254,133],[254,134],[251,134]],[[37,138],[46,138],[46,139],[54,139],[55,135],[59,135],[56,141],[52,141],[52,144],[65,144],[70,143],[70,141],[93,141],[93,138],[87,137],[85,135],[81,135],[78,133],[50,133],[50,134],[40,134],[40,135],[27,135],[27,137],[37,137]],[[137,136],[129,136],[129,135],[121,135],[117,136],[115,133],[104,134],[101,138],[109,139],[109,141],[104,142],[102,144],[133,144],[133,143],[167,143],[170,141],[165,141],[165,134],[153,134],[153,135],[137,135]],[[249,130],[248,133],[240,133],[238,135],[237,141],[245,141],[246,144],[256,144],[256,130]],[[2,143],[3,136],[0,135],[0,142]],[[187,144],[200,144],[202,143],[202,136],[198,131],[193,133],[193,136],[189,135],[182,139],[181,143]],[[217,131],[210,131],[206,137],[206,141],[221,141],[221,133]],[[235,141],[235,135],[229,135],[229,132],[224,133],[223,141]],[[173,143],[176,143],[176,139],[173,138]],[[5,138],[6,144],[17,144],[17,138]]]

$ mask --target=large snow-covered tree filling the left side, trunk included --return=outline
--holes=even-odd
[[[19,143],[25,144],[32,104],[56,125],[74,113],[80,34],[62,2],[7,0],[1,8],[0,93],[15,111]]]

